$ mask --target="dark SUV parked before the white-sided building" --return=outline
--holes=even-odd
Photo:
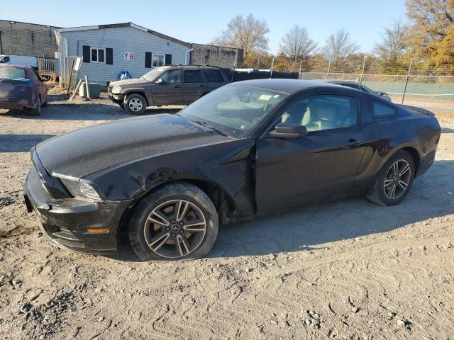
[[[128,113],[145,113],[147,106],[187,105],[228,84],[216,67],[169,65],[152,69],[139,79],[113,81],[108,94]]]

